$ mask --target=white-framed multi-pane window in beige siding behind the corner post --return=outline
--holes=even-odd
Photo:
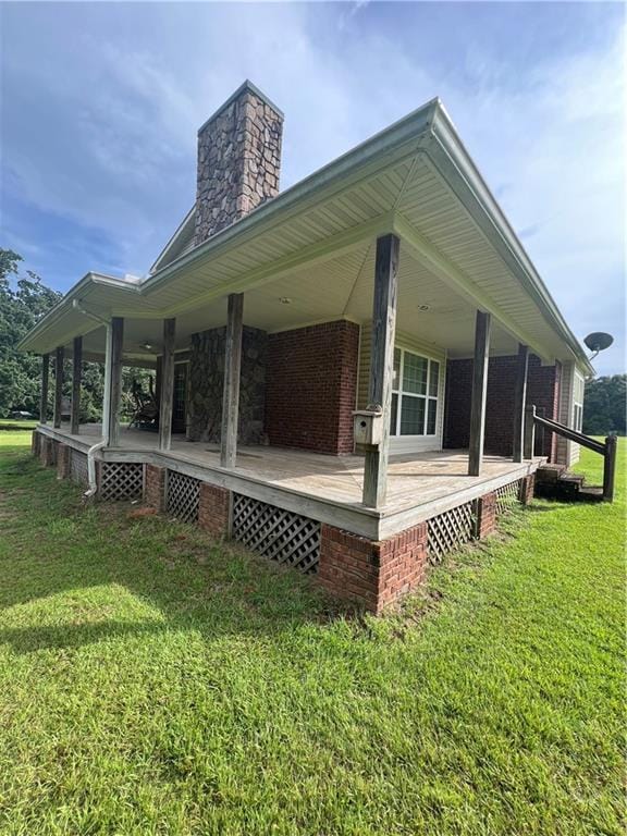
[[[394,349],[391,435],[435,435],[440,364]]]

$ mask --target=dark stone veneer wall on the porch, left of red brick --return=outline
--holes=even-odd
[[[192,335],[189,346],[189,441],[219,442],[222,430],[225,328]],[[239,378],[238,440],[242,444],[266,441],[266,365],[268,334],[244,327]]]

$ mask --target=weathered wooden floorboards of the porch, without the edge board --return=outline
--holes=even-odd
[[[79,435],[70,435],[66,426],[62,427],[61,432],[84,444],[94,444],[100,439],[99,425],[85,425]],[[121,448],[157,450],[157,433],[153,432],[123,430]],[[220,468],[217,445],[188,442],[183,437],[173,437],[168,455],[199,467]],[[508,474],[516,478],[515,474],[520,467],[508,458],[487,455],[482,475],[469,477],[466,451],[392,456],[384,512],[396,514],[418,505],[431,504]],[[361,503],[364,459],[360,456],[329,456],[281,447],[244,446],[238,450],[236,472],[269,485],[343,505],[360,506]]]

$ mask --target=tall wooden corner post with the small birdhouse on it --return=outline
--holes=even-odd
[[[368,409],[381,410],[383,428],[380,445],[366,452],[362,493],[364,505],[372,508],[384,505],[388,493],[399,248],[395,235],[377,239]]]

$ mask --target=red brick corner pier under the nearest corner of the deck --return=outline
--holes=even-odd
[[[334,595],[380,613],[415,589],[427,571],[427,524],[376,542],[323,525],[319,582]]]

